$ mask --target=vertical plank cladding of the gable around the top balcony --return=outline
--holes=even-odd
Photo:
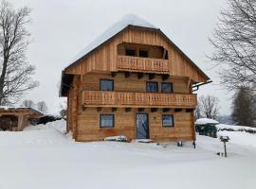
[[[68,67],[64,73],[84,75],[90,72],[118,72],[119,43],[138,43],[162,46],[168,51],[169,74],[171,76],[191,77],[194,82],[206,82],[205,77],[190,60],[184,58],[171,43],[154,30],[124,29],[108,43],[101,45],[93,53]],[[145,71],[148,72],[148,71]]]

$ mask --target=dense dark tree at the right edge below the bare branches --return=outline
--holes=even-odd
[[[240,126],[255,127],[255,94],[247,87],[241,87],[233,95],[232,119]]]

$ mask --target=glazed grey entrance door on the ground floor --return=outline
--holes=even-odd
[[[149,139],[149,121],[147,113],[137,113],[137,139]]]

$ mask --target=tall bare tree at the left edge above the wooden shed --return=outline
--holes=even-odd
[[[38,85],[31,75],[35,68],[26,58],[30,34],[27,31],[30,9],[13,9],[0,4],[0,105],[15,103],[19,96]]]

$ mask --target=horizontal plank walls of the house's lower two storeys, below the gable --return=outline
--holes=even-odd
[[[136,138],[136,113],[138,108],[132,108],[131,112],[126,112],[124,108],[118,108],[113,112],[111,107],[103,107],[99,111],[97,107],[86,107],[82,100],[84,90],[100,89],[100,79],[113,79],[115,92],[146,92],[146,82],[160,82],[162,78],[156,76],[154,79],[149,79],[148,75],[142,78],[137,78],[137,74],[132,74],[130,77],[125,77],[123,73],[112,77],[110,73],[95,73],[84,76],[75,76],[72,86],[68,91],[67,96],[67,128],[72,130],[73,138],[76,141],[98,141],[103,140],[107,136],[125,135],[129,140]],[[174,94],[189,94],[192,95],[190,79],[188,77],[169,77],[164,82],[172,82],[174,86]],[[160,88],[159,88],[160,90]],[[115,93],[114,92],[114,93]],[[168,102],[167,102],[168,103]],[[82,109],[86,107],[86,109]],[[115,105],[113,107],[116,107]],[[139,106],[138,106],[139,107]],[[143,106],[141,106],[143,107]],[[152,106],[154,108],[154,106]],[[177,108],[177,107],[176,107]],[[183,107],[185,108],[185,107]],[[187,107],[188,108],[188,107]],[[194,108],[194,106],[192,107]],[[145,108],[143,112],[149,115],[150,138],[154,141],[175,141],[175,140],[193,140],[193,112],[186,112],[183,109],[181,112],[163,112],[163,109],[157,109],[156,112],[151,112],[150,108]],[[115,128],[102,129],[100,128],[100,114],[113,113],[115,114]],[[162,127],[162,114],[174,114],[174,128]],[[123,121],[125,120],[125,122]]]

